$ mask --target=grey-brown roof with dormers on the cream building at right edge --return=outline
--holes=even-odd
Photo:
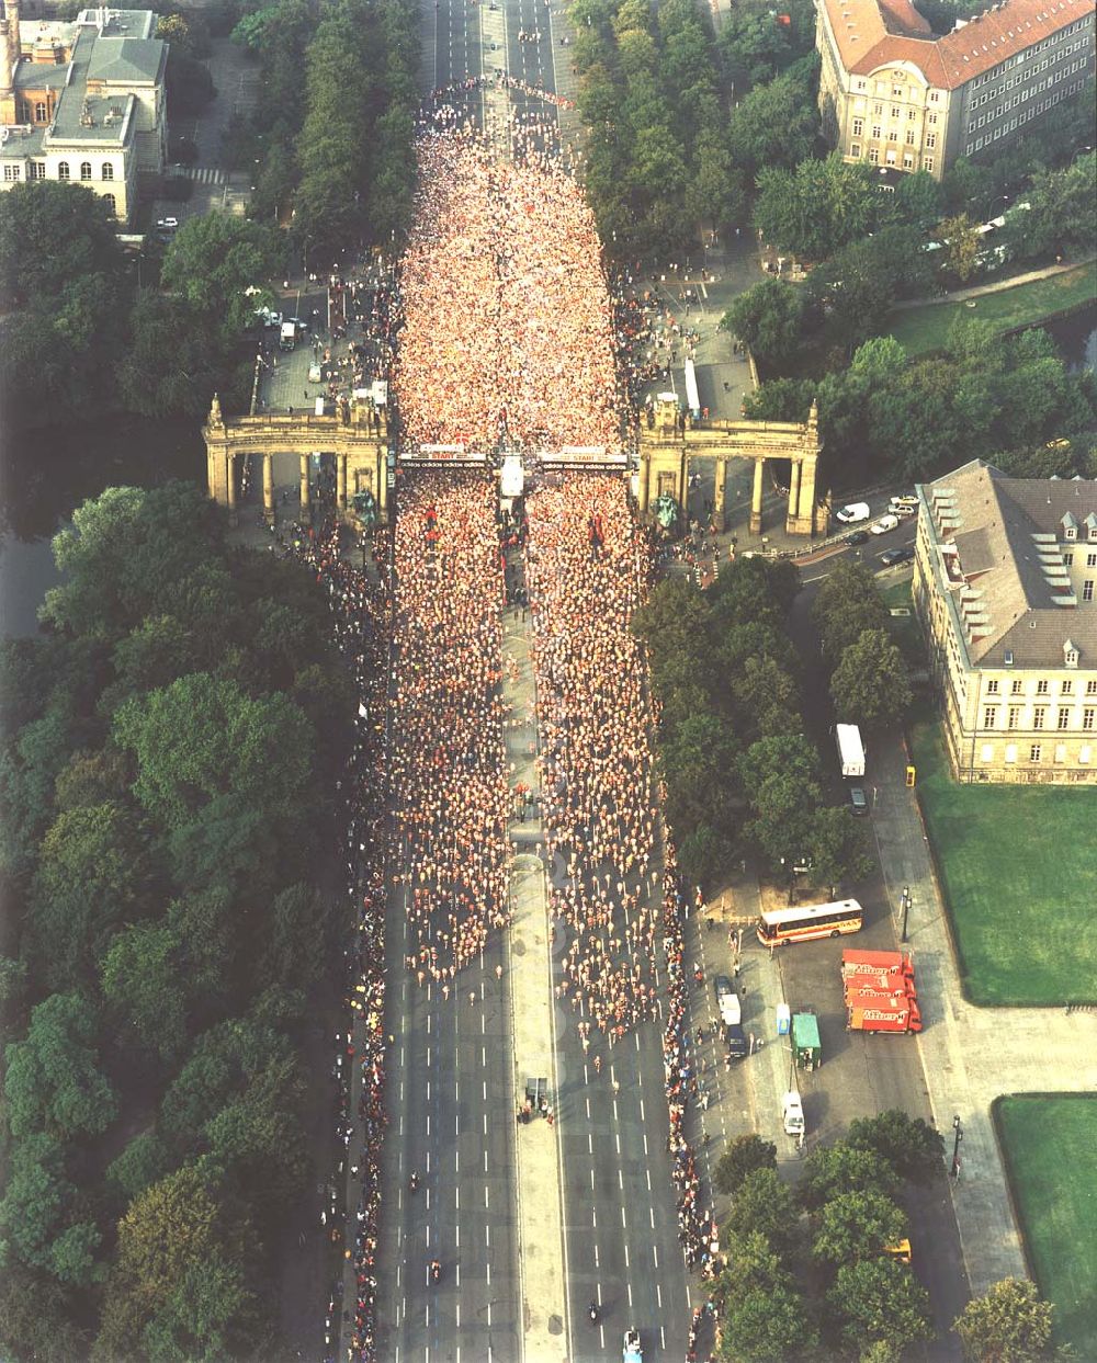
[[[955,556],[954,590],[965,645],[978,667],[1062,668],[1072,642],[1097,667],[1097,601],[1079,601],[1063,547],[1097,549],[1085,529],[1064,541],[1064,518],[1097,514],[1097,481],[1010,478],[981,459],[923,487],[935,555]],[[966,612],[966,613],[965,613]],[[977,624],[970,622],[978,617]],[[1007,662],[1007,653],[1011,661]]]

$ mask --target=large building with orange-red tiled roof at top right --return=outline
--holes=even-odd
[[[823,134],[846,161],[927,170],[1003,139],[1093,75],[1093,0],[999,0],[938,37],[912,0],[819,0]]]

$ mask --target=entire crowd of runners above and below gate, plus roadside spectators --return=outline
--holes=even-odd
[[[382,288],[360,294],[349,282],[338,308],[343,323],[380,335],[376,352],[356,358],[375,372],[391,360],[405,442],[530,454],[572,443],[617,448],[619,394],[627,402],[628,384],[616,365],[651,333],[635,297],[611,294],[578,188],[544,147],[519,164],[500,162],[467,129],[425,132],[420,166],[397,288],[399,333]],[[353,1180],[342,1229],[334,1204],[331,1210],[354,1300],[345,1300],[341,1278],[327,1322],[328,1356],[338,1338],[333,1318],[342,1315],[352,1363],[377,1356],[387,895],[399,895],[407,916],[405,966],[446,999],[461,968],[508,920],[515,792],[503,741],[507,600],[531,613],[544,852],[566,872],[549,898],[563,946],[557,992],[582,1014],[579,1035],[596,1071],[631,1028],[664,1017],[679,1238],[692,1266],[715,1270],[713,1209],[687,1135],[698,1086],[684,900],[657,814],[645,662],[630,631],[650,547],[624,483],[534,473],[518,534],[500,525],[497,489],[482,473],[405,468],[397,503],[392,577],[380,563],[382,585],[339,557],[335,533],[294,541],[330,594],[360,701],[342,778],[356,921],[352,1025],[337,1036],[341,1168]],[[515,556],[525,559],[521,590],[508,583]],[[521,791],[523,815],[529,795]],[[660,953],[668,965],[661,999]]]

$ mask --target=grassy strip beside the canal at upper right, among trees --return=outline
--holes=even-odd
[[[989,323],[995,331],[1011,331],[1042,322],[1079,303],[1090,303],[1097,296],[1097,262],[1052,275],[1018,284],[1000,293],[985,293],[972,298],[973,308],[963,303],[927,303],[921,308],[902,308],[893,312],[884,327],[910,356],[940,350],[948,337],[948,327],[961,313]]]

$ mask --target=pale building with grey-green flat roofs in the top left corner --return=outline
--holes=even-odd
[[[0,188],[86,185],[128,222],[138,177],[168,151],[168,44],[151,10],[84,10],[71,23],[0,19]]]

